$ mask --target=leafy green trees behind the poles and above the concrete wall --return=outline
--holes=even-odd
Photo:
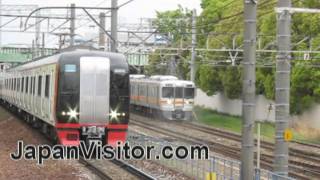
[[[275,99],[275,62],[277,53],[276,0],[261,0],[257,15],[256,93]],[[294,7],[320,8],[318,0],[293,0]],[[179,6],[176,10],[157,12],[154,21],[158,32],[166,39],[168,48],[183,47],[173,58],[180,78],[190,77],[191,30],[197,28],[197,48],[242,49],[243,2],[239,0],[202,0],[202,12],[197,25],[192,27],[190,9]],[[292,50],[320,50],[320,15],[294,14],[292,16]],[[175,52],[176,53],[176,52]],[[230,99],[242,94],[242,52],[197,52],[196,84],[208,95],[223,92]],[[230,54],[231,53],[231,54]],[[167,54],[167,55],[166,55]],[[172,50],[156,50],[149,57],[148,74],[168,73]],[[232,65],[230,55],[235,58]],[[291,113],[301,114],[320,103],[320,54],[292,53],[291,60]]]

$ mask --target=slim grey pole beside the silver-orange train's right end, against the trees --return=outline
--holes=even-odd
[[[197,11],[194,9],[192,12],[192,43],[191,43],[191,77],[190,80],[192,82],[195,82],[195,76],[196,76],[196,46],[197,46]]]

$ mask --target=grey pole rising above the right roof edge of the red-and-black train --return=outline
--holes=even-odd
[[[118,49],[118,0],[111,1],[111,52]]]

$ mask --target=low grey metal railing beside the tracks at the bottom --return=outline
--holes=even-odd
[[[156,159],[157,155],[161,155],[161,151],[165,146],[176,148],[181,145],[177,142],[169,142],[161,138],[150,137],[136,132],[129,132],[128,142],[132,146],[154,146],[155,149],[151,154],[151,161],[168,167],[174,171],[180,172],[195,179],[208,179],[207,176],[214,176],[217,180],[240,180],[241,162],[232,159],[211,155],[207,160],[191,160],[191,159]],[[188,146],[188,145],[186,145]],[[270,171],[263,169],[255,169],[256,180],[294,180],[293,178],[279,176]]]

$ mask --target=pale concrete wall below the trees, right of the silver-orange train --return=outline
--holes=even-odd
[[[216,110],[230,115],[242,115],[242,100],[230,100],[223,94],[218,93],[213,96],[207,96],[206,93],[197,90],[195,104]],[[270,108],[271,104],[271,108]],[[266,99],[264,96],[257,96],[256,99],[256,118],[261,121],[275,121],[274,102]]]

